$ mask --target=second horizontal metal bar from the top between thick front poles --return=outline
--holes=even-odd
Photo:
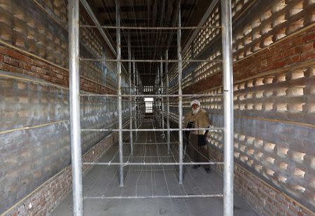
[[[127,59],[104,59],[104,58],[80,58],[80,61],[93,62],[222,62],[222,60],[127,60]]]

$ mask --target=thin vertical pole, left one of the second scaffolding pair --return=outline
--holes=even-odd
[[[120,27],[120,2],[116,0],[116,27]],[[121,102],[121,50],[120,50],[120,29],[116,29],[116,42],[117,42],[117,74],[118,74],[118,121],[119,121],[119,162],[123,163],[123,106]],[[123,164],[120,164],[119,170],[119,186],[124,186],[124,168]]]

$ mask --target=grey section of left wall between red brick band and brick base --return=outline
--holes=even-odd
[[[0,203],[5,210],[71,163],[69,90],[1,71],[0,86]],[[84,97],[80,109],[82,128],[117,126],[116,100]],[[82,133],[83,153],[108,134]]]

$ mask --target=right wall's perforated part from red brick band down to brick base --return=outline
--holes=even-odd
[[[276,53],[273,57],[285,53],[274,51],[279,47],[292,50],[305,46],[308,49],[292,54],[302,56],[314,52],[314,36],[314,29],[307,29],[267,50]],[[312,44],[311,49],[309,44]],[[259,62],[265,56],[264,50],[235,63],[235,157],[267,182],[314,208],[314,61],[285,61],[286,65],[279,69],[260,71]],[[256,66],[252,66],[254,69],[244,66],[243,62],[248,59],[257,60]],[[222,93],[222,88],[210,88],[204,93]],[[222,126],[221,98],[200,100],[210,116],[216,116],[214,125]],[[189,106],[189,101],[184,104]],[[222,132],[212,133],[209,141],[223,149]]]

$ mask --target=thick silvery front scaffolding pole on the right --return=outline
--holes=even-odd
[[[221,0],[224,94],[224,215],[233,215],[233,62],[231,0]]]

